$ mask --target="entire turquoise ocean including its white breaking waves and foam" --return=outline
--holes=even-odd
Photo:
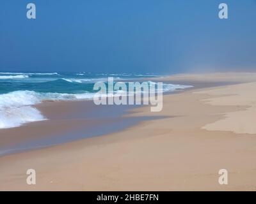
[[[107,82],[108,77],[121,82],[142,78],[164,77],[136,73],[33,73],[0,72],[0,129],[14,128],[39,120],[46,120],[33,105],[43,101],[93,99],[95,82]],[[186,89],[188,85],[163,84],[163,91]]]

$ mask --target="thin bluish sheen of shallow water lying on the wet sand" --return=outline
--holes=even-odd
[[[58,102],[57,102],[58,103]],[[80,112],[74,112],[74,114],[61,115],[61,117],[56,116],[54,120],[83,120],[84,126],[81,126],[76,129],[70,129],[68,131],[62,131],[58,134],[45,135],[30,138],[29,140],[19,140],[13,141],[8,145],[1,145],[0,147],[0,156],[6,154],[12,154],[17,152],[24,152],[27,150],[40,149],[43,147],[50,147],[52,145],[58,145],[61,143],[73,142],[76,140],[81,140],[83,138],[89,138],[93,136],[107,135],[109,133],[116,133],[122,131],[125,128],[129,128],[138,124],[143,120],[153,120],[153,119],[162,119],[164,117],[123,117],[129,112],[131,108],[135,108],[134,105],[110,105],[110,106],[97,106],[96,108],[86,108],[88,104],[92,101],[84,101],[85,108],[81,108]],[[88,121],[88,124],[86,123]],[[93,122],[89,122],[93,121]],[[29,124],[26,127],[26,130],[29,131]],[[20,127],[20,128],[25,128]],[[17,130],[16,130],[17,131]],[[1,140],[0,130],[0,140]],[[22,135],[20,135],[22,137]]]

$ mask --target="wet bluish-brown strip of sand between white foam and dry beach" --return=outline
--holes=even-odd
[[[146,81],[143,78],[140,80]],[[180,91],[186,89],[163,94],[176,94]],[[131,117],[130,113],[139,106],[146,105],[95,105],[93,99],[42,101],[32,107],[39,110],[45,120],[28,122],[15,128],[0,129],[2,140],[0,157],[108,135],[146,120],[161,118],[161,116]]]

